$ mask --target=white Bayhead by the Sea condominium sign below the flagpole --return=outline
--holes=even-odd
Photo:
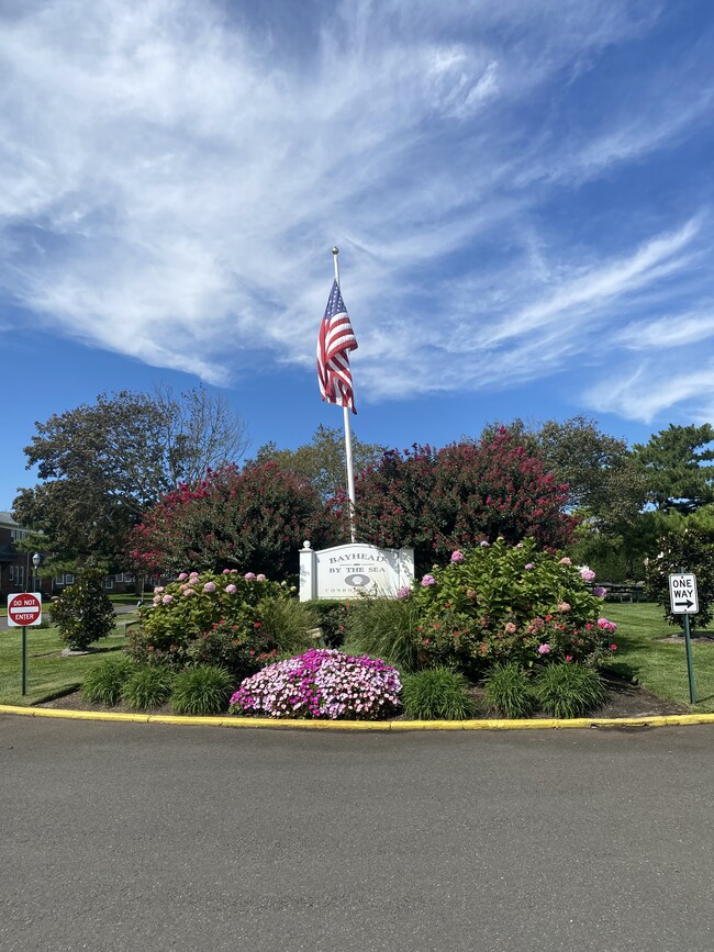
[[[414,580],[414,549],[378,549],[349,542],[315,550],[305,542],[300,551],[300,601],[395,596]]]

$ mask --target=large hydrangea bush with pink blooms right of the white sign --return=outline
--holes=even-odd
[[[453,664],[472,676],[497,662],[531,668],[553,661],[602,663],[616,629],[602,614],[594,572],[533,539],[457,550],[450,563],[416,579],[420,662]]]

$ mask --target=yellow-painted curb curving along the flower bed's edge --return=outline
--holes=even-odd
[[[714,724],[714,714],[672,714],[654,717],[577,717],[572,720],[278,720],[272,717],[178,717],[163,714],[112,714],[94,710],[55,710],[0,704],[0,715],[55,717],[66,720],[113,720],[124,724],[175,724],[193,727],[267,727],[288,730],[546,730],[583,727],[685,727]]]

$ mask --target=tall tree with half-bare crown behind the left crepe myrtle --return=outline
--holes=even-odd
[[[13,513],[44,534],[42,548],[63,564],[121,568],[127,535],[147,506],[235,459],[246,444],[243,421],[203,389],[100,394],[35,426],[25,456],[40,483],[20,490]]]

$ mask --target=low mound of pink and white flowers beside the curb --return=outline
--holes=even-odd
[[[331,648],[270,664],[246,679],[231,698],[231,714],[376,720],[394,714],[401,681],[379,658]]]

